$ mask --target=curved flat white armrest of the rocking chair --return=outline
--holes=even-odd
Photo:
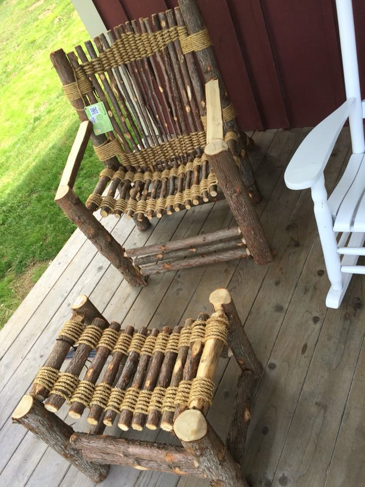
[[[349,98],[306,136],[285,171],[288,188],[302,190],[318,181],[354,105],[355,98]]]

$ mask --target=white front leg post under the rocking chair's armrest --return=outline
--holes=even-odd
[[[323,174],[310,189],[327,275],[331,282],[331,287],[336,291],[340,291],[343,287],[341,261],[337,253],[337,240],[333,231],[332,215],[328,206]]]

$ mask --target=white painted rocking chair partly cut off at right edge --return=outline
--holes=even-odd
[[[336,0],[345,78],[346,101],[304,139],[285,172],[288,188],[310,188],[314,214],[331,288],[326,306],[338,308],[353,274],[365,255],[365,101],[360,94],[354,16],[351,0]],[[327,199],[323,170],[340,131],[349,119],[352,155],[336,188]],[[338,235],[339,239],[337,241]]]

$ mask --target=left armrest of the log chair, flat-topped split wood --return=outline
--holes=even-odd
[[[91,122],[88,120],[81,122],[63,169],[60,187],[69,186],[73,188],[92,130],[93,124]]]

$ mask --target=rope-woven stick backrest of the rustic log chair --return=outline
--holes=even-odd
[[[71,83],[64,82],[60,63],[54,63],[82,120],[86,115],[80,106],[104,102],[113,130],[104,143],[94,143],[102,161],[118,156],[123,166],[145,171],[174,167],[202,153],[201,79],[219,78],[225,132],[239,133],[208,31],[194,2],[182,3],[190,4],[186,12],[178,7],[151,21],[126,22],[108,32],[109,41],[102,34],[94,39],[95,47],[91,41],[85,42],[86,51],[76,46],[77,56],[67,54]]]

